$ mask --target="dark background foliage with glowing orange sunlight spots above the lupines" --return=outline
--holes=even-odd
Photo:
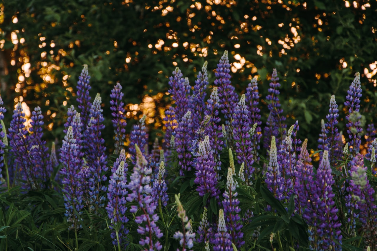
[[[101,93],[105,115],[116,81],[123,85],[128,117],[138,118],[149,107],[153,139],[161,136],[154,130],[169,103],[165,93],[175,66],[193,84],[204,61],[216,69],[224,50],[236,71],[237,91],[244,92],[258,75],[262,103],[268,76],[277,68],[288,127],[299,120],[299,137],[309,138],[310,147],[316,148],[330,95],[342,110],[356,72],[361,73],[362,113],[367,122],[376,122],[376,1],[3,0],[0,9],[6,120],[15,101],[30,109],[38,105],[50,125],[49,138],[64,136],[64,116],[76,105],[83,64],[92,76],[91,95]],[[214,74],[209,77],[213,83]],[[263,110],[262,120],[267,116]],[[127,122],[128,127],[134,123]],[[104,134],[112,137],[109,116],[105,123]]]

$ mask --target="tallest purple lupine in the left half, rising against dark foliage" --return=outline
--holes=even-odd
[[[85,131],[87,124],[90,121],[90,107],[92,106],[89,96],[89,90],[92,89],[92,87],[89,84],[89,80],[90,76],[88,74],[88,66],[84,64],[84,68],[81,71],[80,76],[78,77],[76,92],[78,109],[81,110],[80,115],[81,122],[83,123],[83,131]]]

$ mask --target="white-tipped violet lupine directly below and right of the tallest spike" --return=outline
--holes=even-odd
[[[234,148],[237,153],[237,162],[238,164],[245,163],[246,182],[252,184],[251,176],[254,172],[254,167],[252,167],[254,159],[249,134],[248,113],[249,111],[245,104],[245,94],[243,94],[233,113],[233,139]]]

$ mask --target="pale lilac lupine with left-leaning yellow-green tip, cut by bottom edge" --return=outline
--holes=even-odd
[[[176,194],[175,194],[175,203],[177,204],[178,217],[182,221],[183,233],[181,231],[177,231],[175,232],[173,237],[179,240],[179,245],[181,245],[182,251],[186,251],[187,250],[186,248],[190,249],[193,247],[195,233],[190,231],[190,229],[192,230],[191,220],[189,221],[189,219],[187,218],[186,211],[183,209],[181,201],[179,201],[179,198]],[[177,249],[177,251],[179,251],[179,248]]]

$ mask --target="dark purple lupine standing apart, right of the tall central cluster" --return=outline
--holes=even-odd
[[[271,76],[271,83],[268,92],[270,94],[267,95],[266,99],[269,101],[268,103],[268,110],[270,110],[270,114],[268,115],[267,119],[267,126],[265,127],[265,138],[264,138],[264,148],[269,147],[270,138],[271,136],[275,136],[277,143],[283,140],[283,136],[285,135],[285,129],[287,125],[284,123],[285,116],[282,116],[283,109],[280,108],[280,101],[278,95],[280,91],[277,88],[280,88],[280,83],[278,82],[279,78],[277,77],[276,69],[273,69],[272,76]],[[280,140],[279,140],[280,138]]]

